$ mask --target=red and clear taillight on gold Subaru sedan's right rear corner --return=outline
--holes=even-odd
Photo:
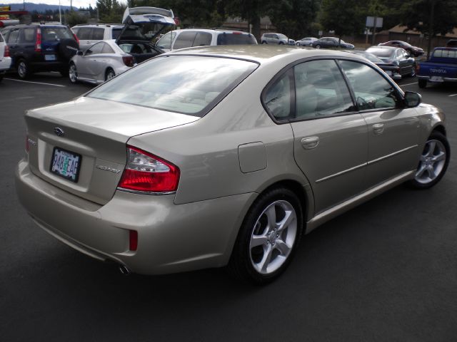
[[[174,192],[179,167],[156,155],[127,145],[127,165],[118,188],[134,192]]]

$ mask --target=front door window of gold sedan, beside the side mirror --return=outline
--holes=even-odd
[[[400,105],[396,88],[380,73],[363,63],[340,61],[351,84],[359,110],[396,108]]]

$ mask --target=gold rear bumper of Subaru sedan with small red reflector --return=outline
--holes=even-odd
[[[26,160],[16,169],[21,204],[39,227],[91,257],[140,274],[224,266],[255,194],[174,204],[174,195],[116,192],[101,206],[36,177]],[[138,249],[129,250],[129,229]]]

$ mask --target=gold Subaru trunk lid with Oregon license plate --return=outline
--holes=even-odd
[[[56,187],[105,204],[119,184],[129,138],[198,119],[86,97],[37,108],[26,113],[29,166]]]

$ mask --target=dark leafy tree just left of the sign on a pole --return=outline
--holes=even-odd
[[[363,31],[365,11],[366,1],[363,0],[323,0],[320,21],[341,40],[343,35]]]

